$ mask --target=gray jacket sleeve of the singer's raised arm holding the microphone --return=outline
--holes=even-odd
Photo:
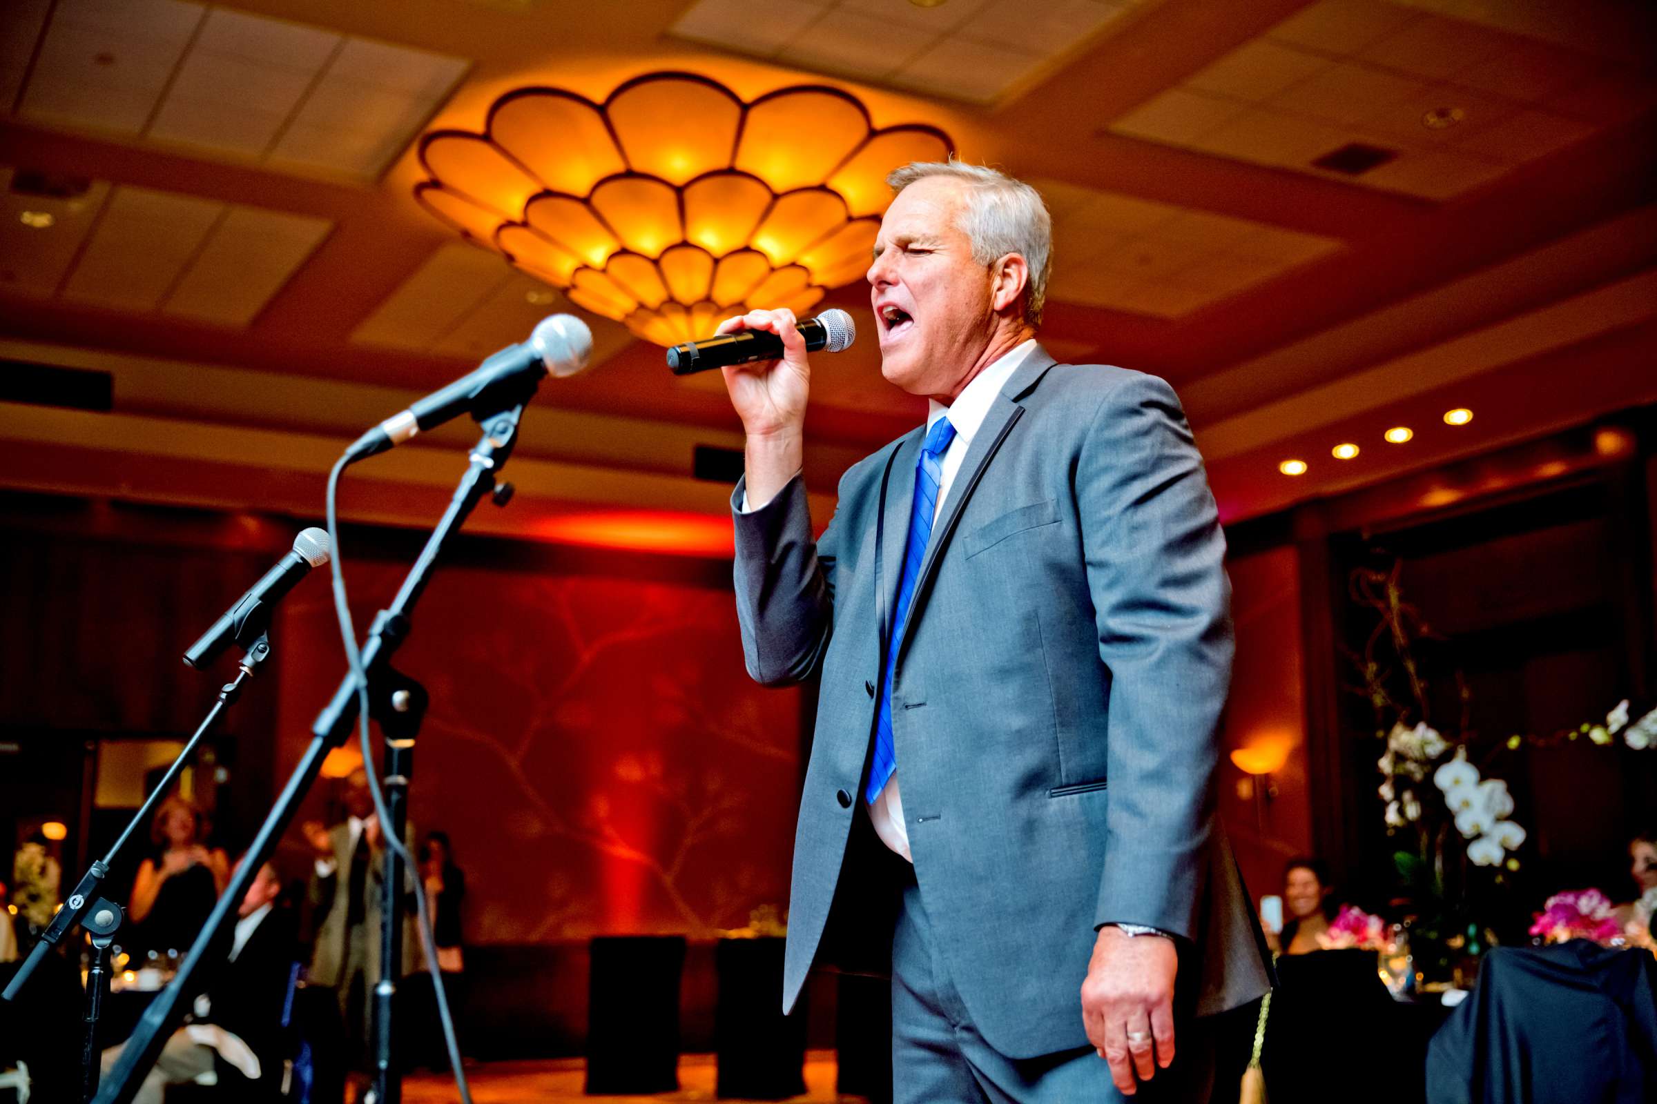
[[[833,631],[835,526],[812,541],[805,482],[795,475],[759,510],[742,513],[746,480],[731,498],[736,525],[736,612],[747,674],[764,685],[809,679]],[[843,490],[843,483],[842,483]]]

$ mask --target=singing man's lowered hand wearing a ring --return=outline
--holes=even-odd
[[[1087,1041],[1110,1064],[1123,1096],[1173,1061],[1173,977],[1178,953],[1167,935],[1099,929],[1082,982]]]

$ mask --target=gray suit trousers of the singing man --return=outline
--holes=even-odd
[[[908,864],[905,864],[908,866]],[[891,1099],[895,1104],[1201,1104],[1213,1089],[1208,1025],[1180,1016],[1176,1058],[1168,1069],[1123,1097],[1090,1046],[1014,1059],[993,1048],[973,1025],[943,947],[933,935],[913,871],[903,886],[891,935]],[[1087,963],[1054,985],[1080,988]]]

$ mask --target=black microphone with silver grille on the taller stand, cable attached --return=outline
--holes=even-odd
[[[548,314],[524,344],[510,344],[447,387],[431,392],[401,414],[358,437],[345,455],[351,463],[384,452],[421,430],[429,430],[462,414],[514,406],[514,399],[535,394],[542,376],[573,376],[593,354],[593,331],[575,314]]]

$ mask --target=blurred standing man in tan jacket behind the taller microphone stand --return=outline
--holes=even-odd
[[[384,834],[363,768],[345,780],[345,823],[325,829],[310,821],[305,839],[316,854],[310,900],[315,909],[316,945],[310,982],[331,988],[345,1016],[350,1064],[360,1064],[368,1044],[374,982],[379,980],[379,899],[384,882]],[[406,872],[404,897],[413,894]],[[401,973],[419,967],[419,930],[404,910]]]

